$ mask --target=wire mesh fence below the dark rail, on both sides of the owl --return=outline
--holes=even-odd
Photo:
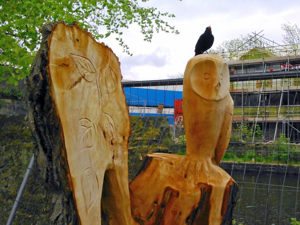
[[[259,87],[255,80],[235,81],[232,137],[220,163],[240,187],[235,224],[289,224],[291,218],[300,218],[300,102],[295,80],[298,77],[272,79],[267,81],[273,85],[265,85],[262,78]],[[182,107],[176,106],[182,85],[138,85],[125,85],[132,115],[130,179],[147,152],[186,153],[182,115],[176,115]],[[164,104],[161,113],[158,104]]]

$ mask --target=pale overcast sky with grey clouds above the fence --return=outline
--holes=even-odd
[[[124,30],[123,40],[133,56],[123,53],[114,37],[103,41],[121,62],[123,79],[167,79],[168,74],[183,73],[187,61],[194,56],[199,36],[207,26],[214,35],[212,48],[225,40],[264,30],[265,38],[282,43],[280,26],[290,22],[300,27],[300,1],[217,1],[217,0],[149,0],[144,5],[161,12],[174,13],[166,20],[179,30],[179,35],[155,33],[152,42],[143,41],[138,26]]]

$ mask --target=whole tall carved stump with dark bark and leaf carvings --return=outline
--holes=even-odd
[[[76,25],[48,23],[42,34],[26,94],[49,223],[133,224],[118,58]]]

